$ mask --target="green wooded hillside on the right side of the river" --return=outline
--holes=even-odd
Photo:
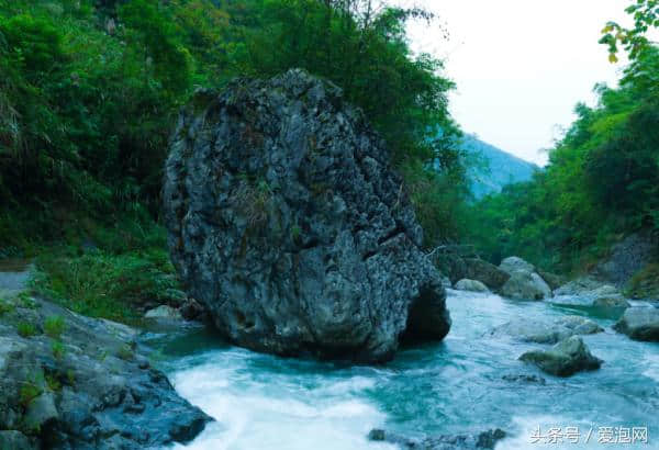
[[[596,86],[599,104],[577,105],[543,172],[472,209],[469,238],[488,259],[583,271],[621,237],[659,230],[659,49],[644,42],[629,48],[619,88]]]

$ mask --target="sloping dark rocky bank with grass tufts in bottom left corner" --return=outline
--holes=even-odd
[[[1,449],[160,448],[191,440],[211,420],[150,367],[134,329],[41,299],[3,302]],[[63,329],[45,326],[51,317]],[[34,329],[23,337],[18,324]]]

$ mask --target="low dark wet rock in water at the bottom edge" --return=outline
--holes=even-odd
[[[496,442],[504,439],[505,431],[496,428],[478,435],[444,435],[421,439],[407,438],[383,429],[373,429],[368,439],[375,442],[388,442],[402,449],[415,450],[469,450],[494,449]]]

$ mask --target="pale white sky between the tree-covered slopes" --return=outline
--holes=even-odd
[[[445,59],[457,83],[451,114],[467,133],[544,165],[544,149],[574,120],[578,102],[595,103],[597,82],[615,86],[597,41],[607,21],[626,23],[630,0],[398,0],[438,20],[410,24],[416,52]],[[449,38],[443,37],[444,27]]]

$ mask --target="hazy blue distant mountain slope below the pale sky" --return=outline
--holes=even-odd
[[[533,173],[539,170],[535,164],[517,158],[472,135],[465,135],[462,148],[476,160],[474,167],[469,170],[471,191],[476,199],[501,192],[506,184],[528,181]]]

